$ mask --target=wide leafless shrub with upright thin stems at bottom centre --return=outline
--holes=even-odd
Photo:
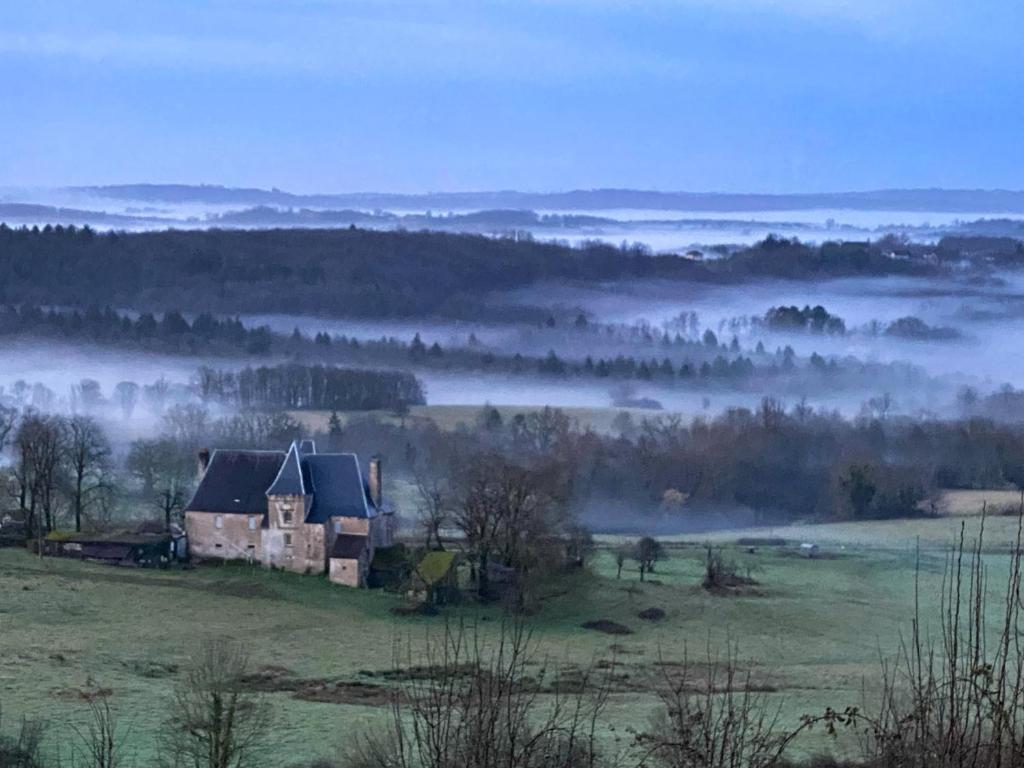
[[[412,655],[412,654],[411,654]],[[611,673],[585,670],[565,691],[527,669],[537,659],[521,625],[494,645],[464,625],[446,626],[425,659],[396,670],[404,685],[386,730],[354,742],[346,768],[593,768]]]

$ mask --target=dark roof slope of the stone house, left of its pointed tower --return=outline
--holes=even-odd
[[[266,514],[266,489],[284,459],[281,451],[214,451],[185,510]]]

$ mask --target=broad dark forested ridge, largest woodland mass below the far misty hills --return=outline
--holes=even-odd
[[[969,255],[969,254],[968,254]],[[519,239],[368,229],[203,229],[95,232],[0,224],[0,302],[139,311],[179,308],[336,316],[538,318],[481,295],[542,281],[655,278],[737,282],[928,274],[941,267],[889,258],[873,243],[768,238],[694,262],[642,248],[569,248]]]

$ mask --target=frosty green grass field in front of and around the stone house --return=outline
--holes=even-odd
[[[610,551],[601,550],[593,572],[552,585],[544,609],[528,623],[540,655],[556,670],[617,659],[624,680],[633,683],[612,696],[607,723],[615,733],[648,722],[655,700],[639,689],[657,675],[659,662],[699,656],[709,642],[715,648],[735,642],[743,666],[777,690],[772,695],[783,722],[796,725],[804,713],[862,703],[865,686],[877,685],[880,654],[893,654],[901,633],[909,631],[919,535],[930,543],[921,555],[923,609],[937,621],[943,546],[958,522],[813,526],[816,541],[833,543],[821,559],[800,557],[793,548],[749,552],[729,544],[736,532],[718,535],[728,555],[760,583],[733,596],[699,587],[701,543],[673,543],[669,558],[657,564],[656,582],[644,584],[632,565],[616,580]],[[1009,541],[1016,520],[988,523],[993,551],[986,563],[998,590],[1008,558],[994,545]],[[0,550],[0,705],[8,723],[22,715],[55,725],[83,722],[81,692],[108,688],[131,725],[132,746],[144,757],[155,749],[163,702],[204,637],[237,639],[257,668],[287,668],[303,680],[386,684],[380,674],[392,668],[395,648],[415,655],[444,623],[440,616],[398,616],[391,610],[398,603],[395,596],[334,587],[319,577],[248,566],[128,570]],[[649,607],[663,608],[666,617],[640,620],[637,613]],[[494,607],[459,612],[479,620],[485,634],[501,620]],[[633,634],[581,628],[602,618]],[[268,695],[276,713],[273,765],[330,756],[386,716],[372,697],[354,703],[344,696],[323,702],[289,691]],[[848,746],[820,733],[801,742],[807,753]]]

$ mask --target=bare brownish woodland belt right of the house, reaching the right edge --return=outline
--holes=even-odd
[[[351,418],[343,439],[428,480],[424,509],[437,528],[457,519],[480,457],[543,472],[554,483],[546,497],[569,512],[564,524],[602,531],[926,516],[941,488],[1024,487],[1021,425],[919,421],[883,407],[856,419],[771,399],[693,421],[624,412],[610,433],[557,409],[486,408],[455,432]]]

